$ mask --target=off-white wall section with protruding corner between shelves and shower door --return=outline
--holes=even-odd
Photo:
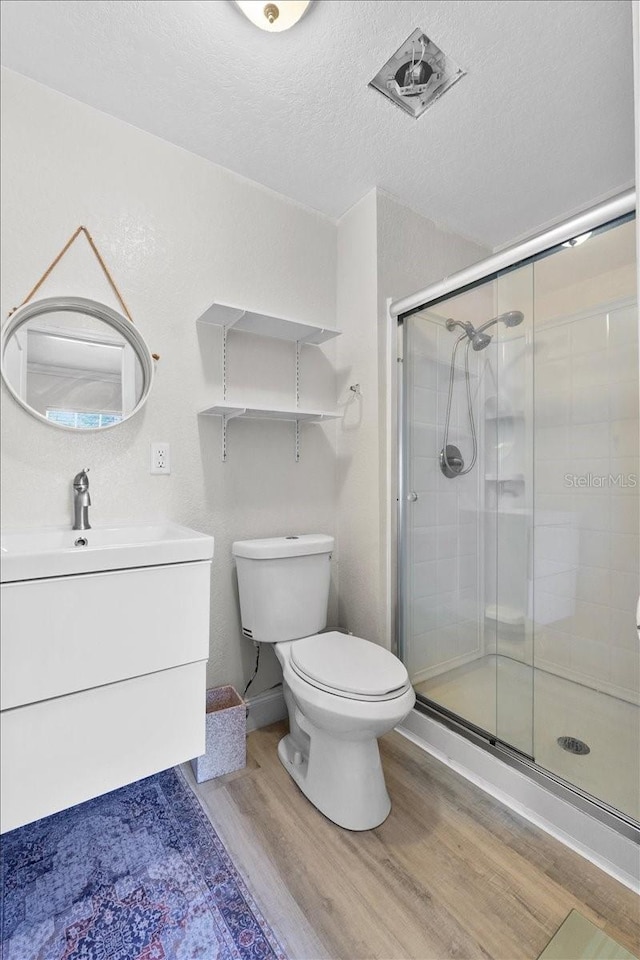
[[[395,631],[396,323],[387,300],[489,251],[381,191],[338,223],[340,622],[391,646]],[[391,359],[392,358],[392,359]],[[349,385],[359,383],[362,396]]]

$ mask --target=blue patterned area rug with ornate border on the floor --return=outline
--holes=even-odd
[[[1,840],[2,960],[286,960],[176,768]]]

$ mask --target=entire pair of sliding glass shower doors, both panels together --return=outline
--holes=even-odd
[[[418,697],[640,821],[635,223],[406,316]]]

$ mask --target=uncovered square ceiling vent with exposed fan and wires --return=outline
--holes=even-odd
[[[464,75],[464,70],[417,29],[387,60],[369,86],[417,118]]]

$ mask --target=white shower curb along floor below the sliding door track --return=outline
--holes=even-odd
[[[633,840],[415,709],[396,729],[481,790],[640,893],[638,847]]]

